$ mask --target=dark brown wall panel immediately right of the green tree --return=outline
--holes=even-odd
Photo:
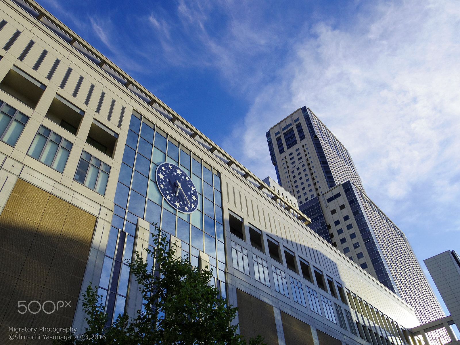
[[[273,307],[248,293],[236,289],[240,334],[249,341],[258,334],[265,338],[265,344],[278,345],[275,313]]]

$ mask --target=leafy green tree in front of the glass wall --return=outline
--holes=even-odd
[[[107,315],[97,290],[91,285],[83,294],[83,308],[88,327],[81,336],[55,342],[59,345],[86,344],[180,344],[180,345],[246,345],[236,334],[231,322],[237,308],[219,298],[219,289],[210,285],[212,272],[199,270],[188,259],[174,256],[176,247],[169,248],[167,235],[156,228],[152,234],[155,248],[145,249],[152,260],[139,253],[130,264],[144,299],[144,310],[129,320],[119,315],[106,327]],[[149,263],[153,262],[152,267]],[[260,335],[249,340],[250,345],[263,344]]]

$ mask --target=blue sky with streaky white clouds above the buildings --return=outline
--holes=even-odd
[[[420,261],[460,252],[458,1],[39,3],[260,178],[308,106]]]

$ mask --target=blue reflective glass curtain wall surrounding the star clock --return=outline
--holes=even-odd
[[[162,162],[180,166],[198,191],[198,208],[191,214],[176,211],[161,196],[155,170]],[[115,209],[98,294],[103,295],[109,322],[125,311],[130,279],[125,259],[132,259],[138,217],[147,220],[150,232],[157,224],[167,234],[178,237],[182,256],[198,266],[199,252],[209,255],[213,270],[211,283],[225,293],[225,247],[220,173],[201,161],[148,120],[131,116],[120,176],[115,193]],[[150,237],[150,246],[153,245]],[[153,247],[150,247],[151,249]]]

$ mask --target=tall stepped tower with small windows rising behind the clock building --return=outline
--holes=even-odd
[[[278,182],[310,228],[412,305],[425,323],[444,316],[404,233],[372,202],[345,147],[307,107],[266,133]]]

